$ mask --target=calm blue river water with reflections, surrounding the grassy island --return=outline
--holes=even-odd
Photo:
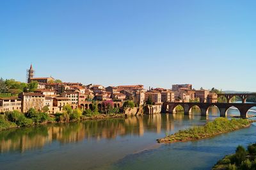
[[[228,115],[239,114],[230,109]],[[254,114],[254,112],[250,112]],[[200,141],[158,144],[180,129],[220,116],[197,111],[60,123],[0,132],[0,169],[211,169],[238,144],[256,142],[256,124]]]

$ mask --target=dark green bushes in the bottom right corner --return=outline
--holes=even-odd
[[[249,144],[247,150],[237,146],[236,153],[227,155],[212,167],[212,170],[250,170],[256,169],[256,143]]]

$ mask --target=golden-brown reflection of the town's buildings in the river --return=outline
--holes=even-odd
[[[218,114],[216,109],[212,114]],[[170,133],[175,127],[184,126],[184,121],[207,120],[207,117],[184,114],[154,114],[132,116],[125,119],[93,120],[81,123],[49,124],[38,127],[17,128],[0,132],[0,151],[35,150],[52,142],[60,144],[77,143],[83,140],[115,139],[118,135],[138,135],[145,132]]]

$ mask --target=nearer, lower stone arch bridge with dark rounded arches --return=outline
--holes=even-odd
[[[208,114],[209,107],[218,107],[220,111],[220,116],[227,116],[227,110],[230,107],[236,107],[242,118],[247,117],[247,112],[252,107],[256,107],[256,103],[185,103],[185,102],[165,102],[163,104],[163,112],[173,113],[175,112],[175,107],[180,105],[184,109],[184,114],[190,114],[193,106],[198,106],[201,111],[202,116],[206,116]]]

